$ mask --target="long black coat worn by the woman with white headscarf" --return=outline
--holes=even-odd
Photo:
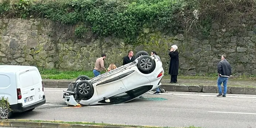
[[[176,51],[172,51],[169,52],[169,56],[170,56],[170,65],[169,65],[169,75],[178,75],[178,71],[179,71],[179,52]]]

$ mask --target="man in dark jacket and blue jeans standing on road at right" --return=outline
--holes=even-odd
[[[218,63],[218,89],[219,94],[217,96],[226,97],[228,78],[231,75],[230,63],[226,60],[226,55],[221,56],[221,61]],[[223,82],[224,93],[222,95],[221,83]]]

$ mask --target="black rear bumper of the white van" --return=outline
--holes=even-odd
[[[43,95],[43,100],[40,100],[33,104],[23,106],[22,103],[18,103],[18,104],[13,104],[10,106],[11,106],[12,112],[25,112],[26,110],[41,106],[41,105],[45,104],[45,102],[46,102],[45,95]]]

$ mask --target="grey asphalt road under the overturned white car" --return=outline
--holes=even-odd
[[[59,88],[45,88],[47,103],[13,119],[86,121],[162,127],[256,128],[256,96],[168,92],[119,105],[68,107]]]

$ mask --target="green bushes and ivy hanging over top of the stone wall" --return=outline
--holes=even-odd
[[[0,16],[47,18],[55,21],[54,32],[65,31],[68,38],[112,35],[135,43],[143,27],[163,33],[183,29],[184,35],[207,37],[213,22],[256,17],[255,4],[254,0],[0,0]]]

